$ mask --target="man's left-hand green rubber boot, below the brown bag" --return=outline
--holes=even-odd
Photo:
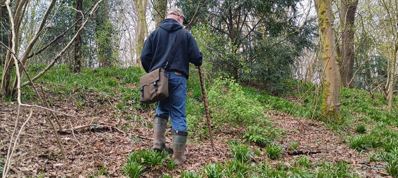
[[[168,150],[166,146],[166,128],[167,128],[168,117],[164,115],[155,115],[153,119],[153,147],[156,151]]]

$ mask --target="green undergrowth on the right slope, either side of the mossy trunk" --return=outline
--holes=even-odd
[[[320,117],[322,100],[318,86],[298,85],[293,96],[271,96],[254,88],[244,87],[253,99],[265,108],[289,113],[295,117],[315,119]],[[326,125],[340,134],[341,141],[369,157],[369,162],[383,162],[389,175],[398,176],[398,112],[394,96],[392,113],[388,114],[387,100],[378,93],[341,88],[340,112],[344,119]]]

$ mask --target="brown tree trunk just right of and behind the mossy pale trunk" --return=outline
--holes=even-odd
[[[341,1],[341,86],[346,88],[355,88],[353,80],[354,67],[354,21],[358,0]]]

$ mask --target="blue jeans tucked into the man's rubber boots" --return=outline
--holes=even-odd
[[[172,130],[187,131],[186,116],[186,78],[169,72],[168,97],[159,101],[156,114],[170,117]]]

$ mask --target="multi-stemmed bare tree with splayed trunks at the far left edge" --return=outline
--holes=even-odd
[[[27,0],[19,0],[16,1],[15,3],[11,4],[11,1],[6,2],[6,6],[8,7],[8,12],[10,14],[10,24],[12,25],[13,28],[11,28],[11,33],[10,33],[10,44],[8,46],[8,52],[7,52],[7,57],[5,60],[5,66],[3,68],[3,75],[2,75],[2,84],[0,86],[0,97],[10,97],[13,96],[15,97],[18,93],[18,89],[21,87],[24,87],[28,84],[31,83],[31,81],[27,81],[24,83],[19,83],[22,80],[17,79],[15,77],[14,79],[14,84],[11,85],[12,81],[12,71],[13,71],[13,66],[15,64],[18,64],[18,72],[21,72],[21,74],[26,73],[23,69],[27,67],[27,61],[28,58],[30,57],[30,54],[33,51],[34,46],[38,43],[38,39],[40,35],[46,30],[45,26],[48,24],[48,18],[55,6],[55,0],[52,0],[51,3],[47,6],[46,12],[42,15],[43,19],[40,22],[36,32],[34,33],[35,35],[32,37],[32,39],[29,41],[29,43],[26,43],[26,47],[24,47],[24,51],[19,52],[20,50],[20,42],[19,40],[28,40],[21,38],[21,23],[25,15],[25,10],[27,6]],[[97,8],[98,4],[102,2],[102,0],[99,0],[98,3],[96,4],[97,6],[93,6],[93,8]],[[81,27],[78,29],[77,32],[80,32],[83,30],[84,26],[89,22],[93,14],[88,14],[88,17],[84,18],[84,21],[82,21]],[[53,59],[52,61],[48,64],[48,66],[43,69],[38,75],[32,77],[32,81],[36,81],[38,78],[40,78],[44,73],[46,73],[57,61],[58,59],[61,58],[61,56],[66,52],[66,50],[73,44],[75,39],[77,38],[77,35],[79,33],[76,33],[75,36],[69,41],[69,43],[63,48],[61,52],[59,52]],[[18,54],[22,54],[21,57],[19,57]],[[20,84],[20,85],[19,85]]]

